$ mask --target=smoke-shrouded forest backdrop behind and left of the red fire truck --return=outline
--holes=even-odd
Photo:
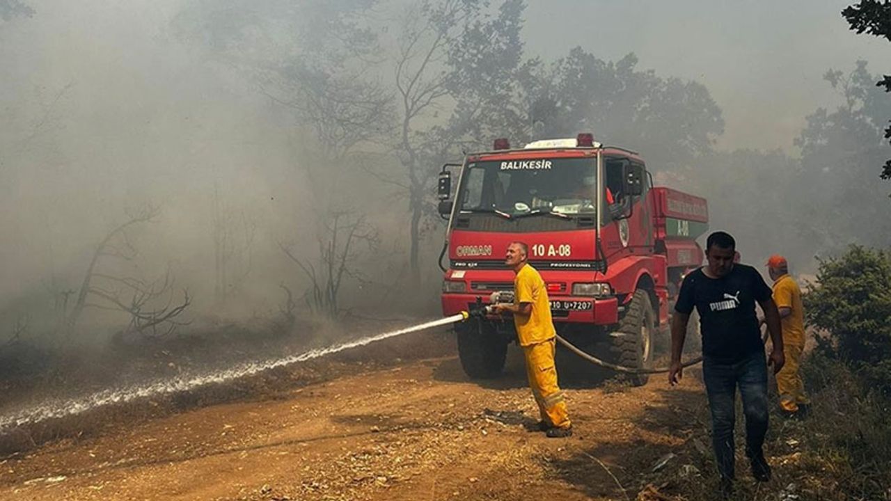
[[[768,149],[726,139],[708,87],[633,37],[536,55],[520,1],[0,6],[0,324],[20,338],[433,311],[437,168],[501,136],[642,152],[746,262],[813,272],[891,235],[891,95],[854,54],[801,76],[832,98]]]

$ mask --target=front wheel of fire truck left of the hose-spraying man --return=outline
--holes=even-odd
[[[507,341],[494,328],[470,322],[455,328],[458,357],[471,379],[492,379],[501,374],[507,357]]]

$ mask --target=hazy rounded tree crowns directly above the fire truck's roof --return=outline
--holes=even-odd
[[[711,152],[723,118],[707,88],[638,70],[637,62],[633,53],[606,62],[576,47],[550,65],[527,63],[522,101],[533,136],[593,131],[601,142],[643,149],[656,169]]]

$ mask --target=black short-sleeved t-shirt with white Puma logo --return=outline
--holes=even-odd
[[[763,350],[755,303],[771,298],[771,288],[753,267],[734,265],[721,278],[709,278],[702,269],[687,275],[674,309],[699,312],[702,355],[734,361]]]

